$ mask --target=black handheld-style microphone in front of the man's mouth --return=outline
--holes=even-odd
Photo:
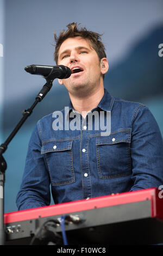
[[[53,78],[68,78],[71,76],[71,69],[67,66],[44,66],[44,65],[30,65],[24,68],[28,73],[33,75],[41,75],[47,77],[53,74]]]

